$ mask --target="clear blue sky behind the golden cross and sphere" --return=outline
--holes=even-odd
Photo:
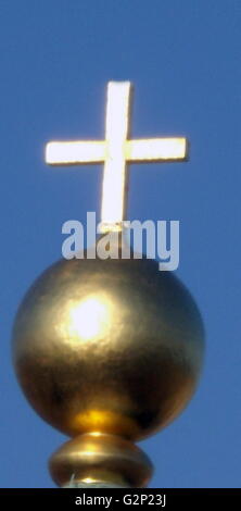
[[[135,137],[185,135],[190,162],[134,165],[129,219],[179,220],[179,277],[202,311],[205,365],[182,415],[142,443],[153,487],[239,487],[239,0],[1,0],[1,487],[52,487],[63,435],[11,363],[24,292],[60,259],[62,223],[99,212],[101,166],[47,167],[51,139],[102,138],[105,84],[135,84]]]

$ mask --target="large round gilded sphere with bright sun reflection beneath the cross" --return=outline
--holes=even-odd
[[[203,323],[173,272],[149,259],[73,259],[50,266],[14,323],[22,388],[52,426],[140,439],[191,398]]]

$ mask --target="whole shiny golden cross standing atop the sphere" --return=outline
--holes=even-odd
[[[50,165],[104,163],[101,230],[122,230],[126,214],[127,163],[187,160],[186,138],[129,139],[130,82],[109,82],[105,140],[47,144]]]

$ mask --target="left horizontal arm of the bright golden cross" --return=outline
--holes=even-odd
[[[46,162],[50,165],[102,163],[105,158],[105,141],[54,141],[47,144],[46,148]]]

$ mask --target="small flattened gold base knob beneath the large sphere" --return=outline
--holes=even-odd
[[[80,435],[64,444],[50,459],[59,486],[147,486],[152,475],[149,458],[130,441],[115,435]]]

